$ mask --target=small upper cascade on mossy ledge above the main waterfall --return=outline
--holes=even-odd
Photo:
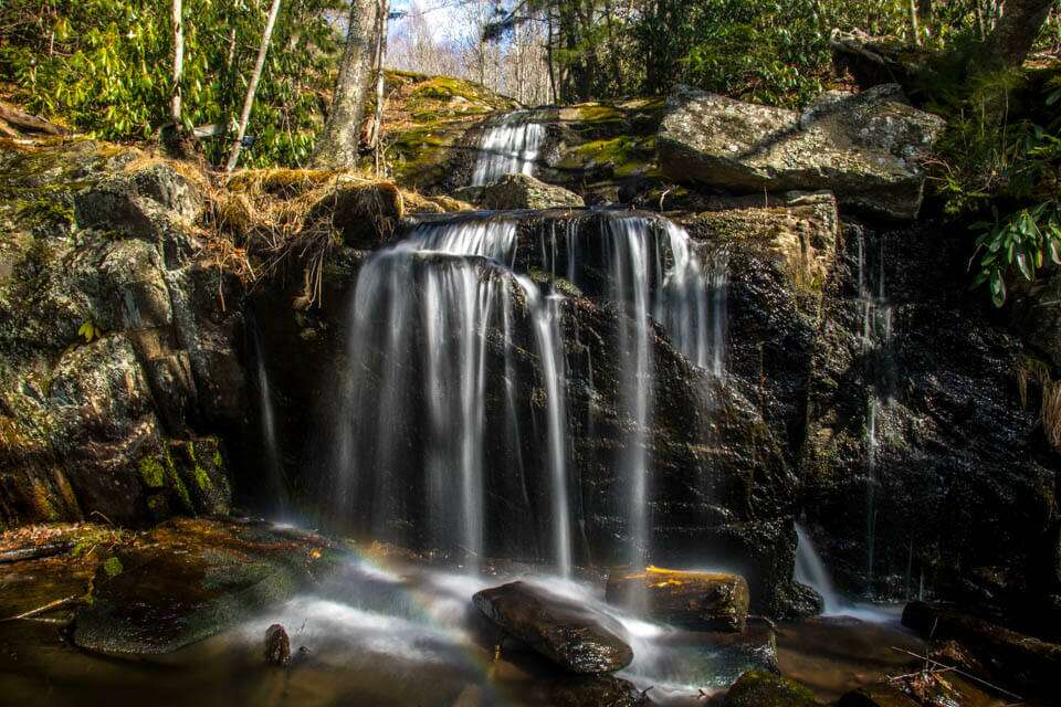
[[[473,187],[497,181],[505,175],[532,175],[545,143],[545,125],[530,110],[503,115],[486,128],[479,145]]]

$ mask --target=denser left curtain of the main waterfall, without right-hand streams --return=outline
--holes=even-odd
[[[427,519],[426,544],[458,550],[472,568],[484,556],[484,455],[487,347],[504,337],[505,414],[522,471],[512,336],[516,305],[526,316],[539,361],[553,487],[553,561],[571,567],[567,489],[567,421],[560,316],[526,277],[508,265],[516,223],[485,219],[419,226],[374,255],[353,303],[348,389],[337,432],[338,513],[365,514],[374,538],[410,540]],[[514,295],[519,295],[515,297]],[[398,469],[422,468],[409,493]],[[518,486],[525,492],[525,479]]]

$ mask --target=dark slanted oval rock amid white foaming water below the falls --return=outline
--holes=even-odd
[[[526,582],[485,589],[473,601],[505,632],[572,673],[611,673],[633,661],[621,626]]]

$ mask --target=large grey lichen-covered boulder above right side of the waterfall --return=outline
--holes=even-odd
[[[897,85],[827,93],[802,114],[680,86],[659,133],[671,179],[736,192],[828,189],[841,204],[914,219],[917,160],[945,127],[911,107]]]

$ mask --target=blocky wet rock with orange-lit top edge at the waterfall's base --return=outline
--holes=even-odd
[[[708,631],[744,631],[748,583],[738,574],[686,572],[650,567],[608,578],[609,602],[643,608],[658,621]]]

